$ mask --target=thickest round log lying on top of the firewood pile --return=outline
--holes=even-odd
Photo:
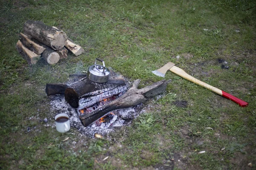
[[[64,31],[47,26],[41,21],[28,20],[24,23],[23,30],[25,34],[31,35],[54,50],[63,48],[67,42],[67,35]]]

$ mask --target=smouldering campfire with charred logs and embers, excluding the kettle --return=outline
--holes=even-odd
[[[75,75],[76,81],[69,84],[47,84],[47,95],[64,94],[65,102],[78,115],[84,127],[100,127],[102,129],[119,126],[131,120],[129,113],[123,110],[146,101],[148,97],[160,94],[166,89],[170,80],[162,80],[142,89],[137,89],[140,79],[134,81],[127,91],[122,75],[111,71],[107,82],[97,83],[87,79],[86,75]],[[130,108],[130,111],[129,111]],[[118,121],[116,121],[118,119]],[[119,124],[119,125],[117,125]],[[76,124],[77,126],[77,124]]]

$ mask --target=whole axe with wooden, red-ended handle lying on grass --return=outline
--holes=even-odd
[[[183,77],[184,79],[189,80],[190,82],[193,82],[193,83],[195,83],[197,85],[201,85],[204,88],[207,88],[207,89],[209,89],[210,91],[213,91],[216,94],[219,94],[219,95],[221,95],[223,97],[226,97],[227,99],[232,100],[233,102],[239,104],[241,107],[246,107],[248,105],[247,102],[244,102],[243,100],[241,100],[241,99],[239,99],[239,98],[237,98],[235,96],[232,96],[231,94],[228,94],[225,91],[222,91],[222,90],[220,90],[218,88],[215,88],[215,87],[213,87],[211,85],[208,85],[205,82],[202,82],[202,81],[196,79],[195,77],[190,76],[189,74],[187,74],[181,68],[176,67],[175,64],[172,63],[172,62],[168,62],[166,65],[164,65],[163,67],[159,68],[158,70],[152,71],[152,73],[154,73],[155,75],[160,76],[160,77],[165,77],[165,74],[166,74],[166,72],[168,70],[170,70],[173,73],[179,75],[180,77]]]

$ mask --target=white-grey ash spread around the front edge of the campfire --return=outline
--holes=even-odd
[[[65,101],[64,95],[50,96],[50,98],[51,112],[55,113],[55,115],[59,113],[66,113],[67,115],[69,115],[70,126],[77,129],[81,133],[81,135],[86,135],[88,137],[93,137],[94,133],[106,135],[109,132],[115,130],[116,127],[130,125],[131,121],[139,115],[139,113],[135,111],[135,109],[132,107],[120,109],[112,111],[115,115],[113,115],[113,118],[110,120],[110,122],[103,122],[99,125],[99,121],[95,121],[91,125],[84,127],[79,119],[79,111],[76,108],[72,108]],[[108,115],[109,113],[107,113],[106,115]],[[55,125],[48,124],[48,126],[55,128]]]

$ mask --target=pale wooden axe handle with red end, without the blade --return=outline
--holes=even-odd
[[[201,86],[203,86],[204,88],[207,88],[207,89],[209,89],[210,91],[213,91],[213,92],[216,93],[216,94],[219,94],[219,95],[221,95],[221,96],[226,97],[227,99],[232,100],[233,102],[239,104],[241,107],[246,107],[246,106],[248,105],[247,102],[244,102],[243,100],[241,100],[241,99],[239,99],[239,98],[237,98],[237,97],[235,97],[235,96],[232,96],[231,94],[228,94],[228,93],[225,92],[225,91],[222,91],[222,90],[220,90],[220,89],[218,89],[218,88],[215,88],[215,87],[213,87],[213,86],[211,86],[211,85],[208,85],[208,84],[205,83],[205,82],[202,82],[202,81],[196,79],[195,77],[190,76],[189,74],[187,74],[187,73],[186,73],[184,70],[182,70],[181,68],[178,68],[178,67],[176,67],[176,66],[173,66],[172,68],[170,68],[170,71],[172,71],[173,73],[179,75],[180,77],[183,77],[184,79],[189,80],[190,82],[193,82],[193,83],[195,83],[195,84],[197,84],[197,85],[201,85]]]

